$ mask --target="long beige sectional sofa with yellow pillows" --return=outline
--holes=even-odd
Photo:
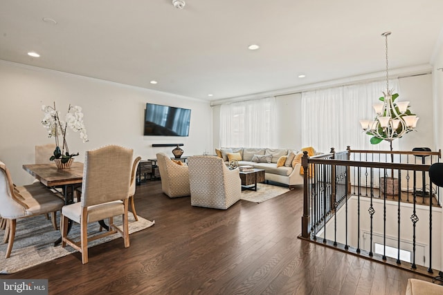
[[[239,153],[241,160],[239,165],[251,165],[257,169],[264,169],[266,182],[279,182],[287,184],[290,189],[296,185],[303,184],[303,174],[300,174],[300,163],[293,165],[293,158],[300,151],[293,149],[268,149],[268,148],[243,148],[243,147],[221,147],[215,150],[217,155],[229,164],[228,154]],[[316,153],[318,154],[318,153]],[[255,157],[255,156],[261,157]],[[278,166],[278,160],[286,156],[282,166]],[[232,158],[232,157],[231,157]],[[255,162],[255,161],[260,162]],[[281,163],[280,163],[281,164]]]

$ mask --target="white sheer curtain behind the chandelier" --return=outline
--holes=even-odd
[[[398,79],[389,82],[393,93],[399,93]],[[372,104],[379,101],[386,92],[386,82],[372,82],[341,86],[319,91],[302,93],[302,146],[314,146],[316,151],[329,152],[351,149],[383,150],[390,149],[386,141],[370,144],[359,120],[374,119]],[[399,93],[399,100],[401,94]],[[398,147],[397,141],[392,147]]]

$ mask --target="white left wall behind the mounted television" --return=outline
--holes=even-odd
[[[34,162],[34,146],[54,142],[40,123],[42,104],[55,102],[62,117],[69,104],[82,106],[89,142],[83,144],[73,131],[66,137],[70,152],[80,153],[75,158],[80,162],[85,151],[107,144],[130,147],[143,159],[155,158],[159,151],[172,156],[174,147],[152,144],[183,143],[183,155],[212,149],[212,108],[209,102],[189,97],[6,61],[0,61],[0,97],[0,160],[19,185],[33,181],[21,165]],[[190,108],[189,137],[143,136],[147,102]]]

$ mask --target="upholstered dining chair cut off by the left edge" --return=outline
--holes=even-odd
[[[6,258],[10,257],[15,240],[17,219],[31,216],[53,214],[62,209],[64,200],[51,192],[43,184],[30,184],[15,187],[6,164],[0,161],[0,216],[7,221],[4,242],[8,240]]]

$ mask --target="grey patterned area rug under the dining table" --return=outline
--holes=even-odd
[[[60,213],[57,213],[57,222],[60,224]],[[141,231],[147,227],[152,227],[154,221],[146,220],[138,216],[138,221],[135,221],[132,213],[129,213],[129,234],[136,231]],[[122,224],[121,216],[114,218],[115,225]],[[88,225],[88,234],[97,234],[99,225],[97,222],[92,222]],[[3,240],[4,230],[0,229],[0,237]],[[69,233],[70,237],[80,238],[80,225],[74,223]],[[12,247],[10,258],[5,258],[6,247],[8,244],[3,244],[0,241],[0,274],[12,274],[20,270],[46,263],[55,258],[60,258],[75,252],[76,250],[66,245],[62,248],[61,245],[54,247],[54,241],[60,238],[60,231],[55,231],[51,220],[46,220],[45,216],[35,216],[32,218],[24,218],[17,220],[17,229],[15,233],[15,241]],[[119,234],[113,234],[93,240],[89,242],[89,247],[121,238]],[[123,240],[122,240],[123,243]]]

